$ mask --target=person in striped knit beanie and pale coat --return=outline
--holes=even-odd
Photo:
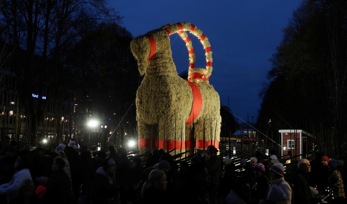
[[[268,191],[270,191],[271,186],[277,185],[286,194],[285,204],[291,204],[291,188],[289,184],[287,183],[287,181],[284,180],[283,164],[281,163],[274,164],[270,168],[270,176],[271,176],[272,182],[270,183],[270,187]]]

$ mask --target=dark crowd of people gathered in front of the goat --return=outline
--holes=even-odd
[[[257,152],[235,166],[212,145],[179,163],[162,149],[130,158],[125,147],[92,153],[75,141],[34,150],[19,150],[12,141],[0,151],[0,203],[312,203],[328,186],[333,202],[346,202],[338,161],[326,155],[316,155],[312,164],[300,160],[290,185],[274,152]]]

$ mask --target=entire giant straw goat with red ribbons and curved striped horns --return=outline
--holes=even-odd
[[[206,69],[194,68],[194,49],[186,31],[203,44]],[[188,82],[178,76],[172,59],[169,35],[173,33],[178,33],[188,48]],[[176,148],[182,152],[190,150],[191,154],[196,148],[211,145],[211,140],[218,148],[220,100],[209,83],[212,52],[202,31],[190,23],[168,24],[136,37],[131,50],[140,74],[145,74],[136,95],[140,153],[150,148]]]

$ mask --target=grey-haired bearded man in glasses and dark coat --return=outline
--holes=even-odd
[[[307,174],[311,171],[310,161],[302,159],[298,162],[298,173],[294,177],[294,203],[311,203],[311,190]]]

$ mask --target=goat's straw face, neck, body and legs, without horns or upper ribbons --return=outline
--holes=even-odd
[[[203,141],[204,129],[205,140],[210,141],[212,138],[218,144],[221,126],[218,93],[208,81],[197,84],[202,96],[202,108],[194,122],[186,127],[186,120],[192,111],[192,88],[177,74],[167,33],[163,29],[157,29],[149,34],[156,42],[156,52],[150,60],[147,58],[151,52],[151,45],[145,36],[136,37],[131,44],[140,73],[145,73],[136,94],[139,144],[146,142],[144,146],[139,145],[140,153],[149,151],[150,147],[157,147],[158,139],[159,148],[167,150],[168,144],[170,150],[174,148],[175,129],[178,152],[180,152],[181,137],[183,142],[181,152],[185,151],[186,140],[189,141],[186,149],[191,150],[191,153],[196,147],[202,148],[196,146],[195,138],[196,141]]]

